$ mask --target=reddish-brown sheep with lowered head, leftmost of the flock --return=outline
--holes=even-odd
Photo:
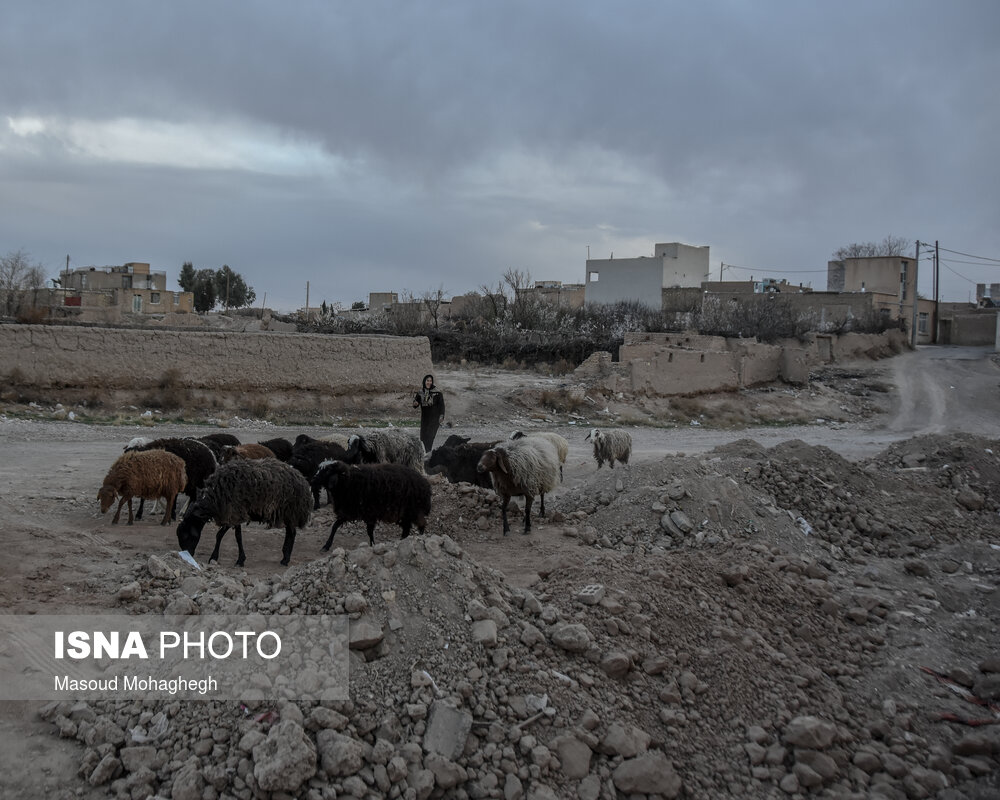
[[[142,450],[123,453],[104,478],[104,484],[97,492],[101,502],[101,513],[107,513],[121,496],[118,510],[111,520],[112,525],[118,523],[122,506],[128,501],[128,524],[134,521],[132,516],[132,498],[156,500],[160,497],[167,502],[161,525],[170,522],[170,512],[178,492],[184,491],[187,484],[187,473],[184,470],[184,460],[166,450]]]

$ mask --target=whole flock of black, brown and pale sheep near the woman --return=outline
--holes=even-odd
[[[605,461],[611,468],[615,461],[628,464],[632,437],[626,431],[594,428],[587,441],[593,443],[598,469]],[[142,518],[145,500],[162,498],[166,510],[160,524],[167,525],[174,517],[177,496],[184,494],[189,502],[177,526],[181,550],[193,556],[202,530],[214,520],[219,529],[210,560],[218,560],[222,539],[232,528],[239,549],[237,566],[246,561],[244,524],[284,527],[281,563],[287,566],[296,531],[320,507],[324,491],[334,509],[324,550],[330,549],[345,522],[364,522],[372,545],[379,522],[398,524],[404,539],[413,526],[422,533],[431,510],[426,473],[494,489],[501,500],[505,535],[510,531],[510,498],[524,497],[524,532],[530,533],[534,498],[539,496],[539,514],[544,516],[545,495],[562,480],[568,453],[569,442],[559,434],[521,431],[504,442],[472,442],[452,435],[429,455],[415,434],[398,428],[319,439],[300,434],[294,442],[278,438],[247,444],[228,433],[140,437],[130,441],[112,464],[97,498],[101,513],[118,500],[112,524],[127,504],[129,525]],[[133,515],[135,497],[140,502]]]

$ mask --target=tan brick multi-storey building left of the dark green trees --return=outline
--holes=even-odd
[[[167,291],[167,273],[129,261],[114,267],[78,267],[59,273],[63,305],[81,310],[167,314],[194,311],[192,292]]]

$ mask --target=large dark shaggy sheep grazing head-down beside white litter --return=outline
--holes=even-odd
[[[219,560],[222,537],[230,527],[236,529],[239,559],[246,562],[243,550],[243,524],[263,522],[268,527],[284,526],[281,564],[288,566],[295,545],[295,532],[309,522],[312,492],[302,474],[276,458],[237,458],[222,464],[205,482],[198,500],[177,526],[181,550],[194,555],[201,532],[210,519],[220,526],[215,535],[215,549],[209,561]]]

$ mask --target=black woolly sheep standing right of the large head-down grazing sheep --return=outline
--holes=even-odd
[[[414,524],[423,533],[431,513],[431,485],[427,478],[400,464],[353,466],[333,461],[323,465],[312,485],[314,494],[321,488],[329,492],[336,515],[324,550],[330,549],[333,535],[345,522],[363,521],[368,527],[368,543],[374,546],[377,522],[398,524],[405,539]]]

